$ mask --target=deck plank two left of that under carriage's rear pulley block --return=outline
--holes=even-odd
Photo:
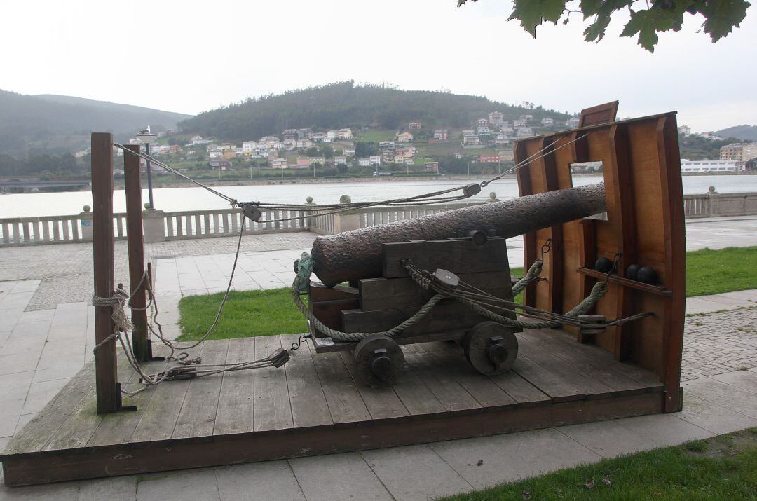
[[[228,351],[228,339],[205,341],[202,347],[202,363],[226,363]],[[205,437],[213,434],[222,383],[222,375],[189,380],[182,409],[171,435],[173,438]]]

